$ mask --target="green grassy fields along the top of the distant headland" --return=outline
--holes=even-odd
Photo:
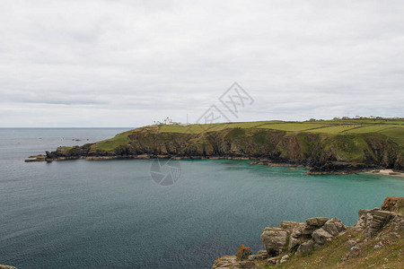
[[[314,122],[258,121],[190,126],[145,126],[95,143],[92,145],[92,151],[102,150],[112,152],[115,148],[128,143],[127,135],[136,132],[199,134],[227,128],[272,129],[286,131],[288,134],[315,133],[321,134],[324,140],[338,134],[376,133],[391,137],[401,147],[404,147],[404,120],[357,119]]]

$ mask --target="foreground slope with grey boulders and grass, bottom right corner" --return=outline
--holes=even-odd
[[[305,223],[281,221],[265,228],[265,250],[243,251],[217,259],[212,268],[402,268],[404,256],[404,197],[387,197],[382,209],[359,210],[353,227],[324,217]]]

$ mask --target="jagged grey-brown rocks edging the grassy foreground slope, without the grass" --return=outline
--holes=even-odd
[[[259,250],[256,255],[248,252],[248,260],[245,256],[240,259],[238,257],[244,253],[240,249],[245,249],[241,246],[237,256],[224,256],[215,262],[213,268],[263,268],[255,265],[285,264],[290,256],[302,256],[323,249],[337,237],[346,238],[342,245],[346,254],[341,256],[341,262],[365,256],[369,247],[379,249],[391,244],[393,239],[402,238],[404,215],[399,213],[403,206],[400,201],[404,201],[404,198],[387,197],[382,204],[383,210],[359,210],[359,219],[353,227],[345,226],[338,218],[309,218],[304,223],[281,221],[279,227],[265,228],[261,234],[260,239],[265,250]],[[395,212],[388,210],[392,208]]]

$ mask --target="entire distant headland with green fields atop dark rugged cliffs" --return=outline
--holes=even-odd
[[[404,121],[403,121],[404,123]],[[372,127],[372,128],[370,128]],[[386,131],[387,130],[387,131]],[[249,158],[312,172],[404,170],[404,125],[324,121],[145,126],[98,143],[59,147],[35,161],[75,158]]]

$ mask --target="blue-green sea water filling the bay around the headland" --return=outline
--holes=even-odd
[[[126,129],[0,129],[0,264],[23,268],[210,268],[279,221],[337,216],[404,194],[404,179],[306,176],[248,161],[179,161],[162,187],[152,161],[24,159]],[[72,139],[81,139],[80,142]],[[88,140],[87,140],[88,139]]]

